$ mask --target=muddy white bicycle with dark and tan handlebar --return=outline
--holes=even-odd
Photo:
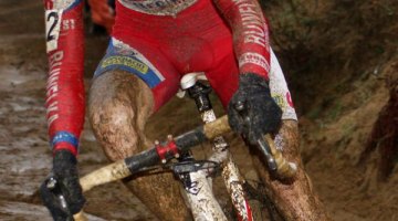
[[[199,80],[205,80],[202,73],[190,73],[186,74],[180,83],[181,88],[188,92],[189,96],[196,102],[205,125],[175,138],[169,135],[167,141],[155,141],[155,146],[150,149],[113,162],[82,177],[80,182],[83,192],[138,172],[156,169],[168,170],[172,171],[181,181],[186,190],[187,203],[195,220],[227,220],[227,215],[217,202],[211,187],[211,175],[221,170],[238,220],[254,220],[247,193],[255,188],[248,185],[248,181],[239,173],[238,167],[229,152],[229,145],[222,137],[222,134],[230,131],[228,118],[227,116],[216,118],[209,98],[211,87],[202,84]],[[235,108],[241,113],[242,117],[245,117],[244,105],[240,104]],[[197,160],[190,149],[203,141],[212,141],[213,154],[206,160]],[[296,171],[295,165],[287,162],[282,157],[270,135],[260,138],[258,147],[266,159],[270,172],[282,179],[294,176]],[[60,204],[67,211],[67,203],[60,192],[56,180],[49,178],[46,187],[59,197]],[[268,209],[273,220],[273,211],[270,211],[270,207]],[[72,219],[72,214],[70,217]],[[73,219],[76,221],[86,220],[83,211],[74,214]]]

